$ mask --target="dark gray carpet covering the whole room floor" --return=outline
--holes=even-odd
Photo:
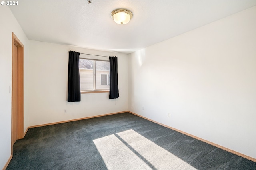
[[[232,142],[232,141],[230,141]],[[130,113],[30,128],[7,170],[256,170],[256,162]]]

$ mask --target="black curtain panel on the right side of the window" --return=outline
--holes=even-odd
[[[116,99],[119,97],[117,57],[109,57],[109,66],[109,99]]]

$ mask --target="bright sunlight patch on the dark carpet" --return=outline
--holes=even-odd
[[[196,170],[190,164],[132,129],[93,141],[109,170]]]

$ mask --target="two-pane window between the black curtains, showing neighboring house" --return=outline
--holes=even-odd
[[[109,61],[79,59],[81,91],[109,90]]]

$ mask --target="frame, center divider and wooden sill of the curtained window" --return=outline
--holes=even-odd
[[[81,94],[84,94],[84,93],[108,93],[109,89],[96,89],[96,61],[104,61],[104,62],[109,63],[109,60],[90,59],[90,58],[80,57],[79,61],[80,61],[80,59],[87,59],[87,60],[93,61],[93,90],[83,90],[83,91],[80,90],[80,93]],[[79,68],[79,73],[80,73],[80,68]],[[108,75],[109,75],[109,72],[107,74],[107,77],[108,77]],[[81,81],[80,81],[80,84],[81,84]],[[109,85],[109,84],[107,84],[107,85]]]

